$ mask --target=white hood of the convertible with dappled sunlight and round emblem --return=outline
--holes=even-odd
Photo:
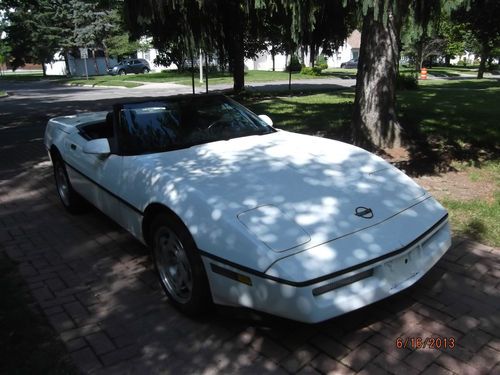
[[[275,252],[374,226],[426,195],[360,148],[285,131],[143,158],[169,194],[201,197],[212,216],[234,221]]]

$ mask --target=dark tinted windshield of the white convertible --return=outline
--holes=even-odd
[[[262,119],[224,96],[125,104],[120,112],[120,146],[128,155],[272,132]]]

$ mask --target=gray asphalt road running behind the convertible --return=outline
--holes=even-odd
[[[294,81],[293,92],[335,90],[352,87],[353,79],[310,79]],[[209,86],[209,91],[224,91],[229,84]],[[288,91],[288,81],[258,82],[248,90]],[[0,90],[9,96],[0,99],[0,130],[3,142],[12,143],[43,136],[45,124],[51,117],[84,111],[109,110],[119,100],[126,98],[190,94],[190,86],[172,83],[149,83],[136,88],[64,86],[53,81],[0,82]],[[205,92],[197,87],[197,93]]]

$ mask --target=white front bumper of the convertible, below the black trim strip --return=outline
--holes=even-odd
[[[445,219],[393,257],[305,286],[245,273],[205,256],[203,261],[215,303],[245,306],[305,323],[318,323],[410,287],[437,263],[450,246],[450,226]],[[214,265],[217,272],[214,272]],[[227,272],[221,273],[221,268]],[[355,280],[360,274],[364,278],[345,283],[345,280]],[[332,285],[336,287],[331,289]]]

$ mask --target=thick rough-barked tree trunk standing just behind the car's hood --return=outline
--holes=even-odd
[[[389,0],[388,8],[397,0]],[[401,146],[401,126],[396,115],[396,75],[399,61],[401,12],[388,17],[387,25],[373,17],[363,19],[359,69],[353,114],[353,142],[361,147]]]

